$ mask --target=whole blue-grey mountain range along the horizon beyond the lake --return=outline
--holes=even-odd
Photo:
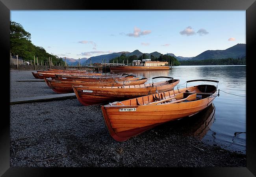
[[[109,62],[110,59],[121,56],[122,53],[125,53],[126,56],[132,56],[136,55],[137,57],[141,56],[143,53],[139,50],[134,50],[133,52],[116,52],[116,53],[109,53],[105,55],[98,55],[95,57],[90,57],[91,63],[102,63],[105,62],[104,59],[106,59],[106,63]],[[161,55],[160,52],[152,52],[152,53],[145,53],[150,57],[150,55],[153,55],[154,57],[159,57]],[[230,48],[227,48],[226,50],[206,50],[205,52],[200,53],[199,55],[195,57],[182,57],[182,56],[175,56],[173,53],[167,53],[167,55],[175,57],[178,61],[188,61],[188,60],[205,60],[205,59],[224,59],[224,58],[243,58],[246,56],[246,44],[236,44]],[[62,58],[63,59],[63,58]],[[78,59],[73,58],[66,58],[67,63],[70,65],[73,63],[73,65],[78,64]],[[88,58],[82,58],[80,59],[80,63],[84,64]],[[65,61],[65,59],[63,59]]]

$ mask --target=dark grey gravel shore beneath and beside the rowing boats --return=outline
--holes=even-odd
[[[54,94],[31,71],[11,71],[11,98]],[[27,94],[26,94],[27,93]],[[207,110],[200,112],[206,114]],[[10,106],[12,167],[245,167],[246,155],[205,144],[199,116],[168,122],[125,142],[115,141],[100,105],[77,99]]]

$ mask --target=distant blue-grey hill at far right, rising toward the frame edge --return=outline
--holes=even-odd
[[[191,60],[241,58],[246,55],[246,44],[236,44],[226,50],[206,50]]]

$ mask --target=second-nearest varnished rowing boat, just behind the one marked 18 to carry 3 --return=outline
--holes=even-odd
[[[80,103],[87,106],[100,103],[109,103],[111,101],[122,101],[130,98],[137,98],[139,96],[155,94],[157,92],[173,90],[173,88],[180,82],[180,80],[173,79],[173,77],[160,77],[169,78],[170,80],[121,87],[73,86],[73,89]],[[153,77],[152,79],[160,77]]]

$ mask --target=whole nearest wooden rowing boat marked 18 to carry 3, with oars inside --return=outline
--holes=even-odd
[[[187,81],[212,81],[192,80]],[[217,94],[214,85],[197,85],[184,89],[152,94],[102,106],[110,135],[125,141],[157,125],[191,116],[208,107]]]

